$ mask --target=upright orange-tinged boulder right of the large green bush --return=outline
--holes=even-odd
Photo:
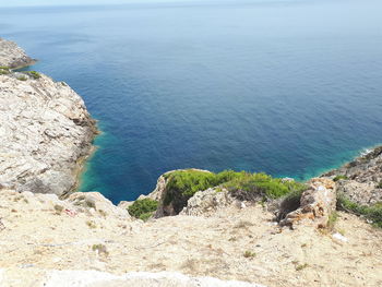
[[[334,181],[324,178],[310,180],[310,188],[300,199],[300,207],[286,215],[280,225],[296,226],[300,223],[327,227],[329,218],[336,208],[336,190]]]

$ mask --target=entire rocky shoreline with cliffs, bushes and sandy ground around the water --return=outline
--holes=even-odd
[[[73,192],[96,124],[65,83],[11,69],[31,63],[0,39],[1,286],[382,285],[382,230],[369,224],[382,146],[307,183],[172,170],[116,206]]]

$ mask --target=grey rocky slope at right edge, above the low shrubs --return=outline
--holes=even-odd
[[[382,202],[382,146],[331,170],[322,177],[336,180],[338,194],[361,205]]]

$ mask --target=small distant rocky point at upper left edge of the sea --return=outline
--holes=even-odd
[[[25,51],[14,41],[0,38],[0,67],[16,69],[33,63],[35,60],[26,56]]]

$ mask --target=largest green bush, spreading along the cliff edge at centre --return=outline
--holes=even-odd
[[[258,201],[277,199],[290,192],[306,190],[296,181],[284,181],[265,174],[225,170],[219,174],[201,170],[178,170],[165,175],[167,180],[164,205],[172,205],[176,214],[187,205],[198,191],[220,186],[239,200]]]

